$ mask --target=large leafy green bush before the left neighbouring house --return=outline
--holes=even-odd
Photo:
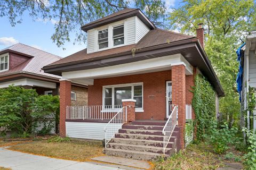
[[[57,117],[59,97],[38,96],[34,89],[9,86],[0,89],[0,126],[17,132],[31,134],[37,121],[47,121],[49,116]]]

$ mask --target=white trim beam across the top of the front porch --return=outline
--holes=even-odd
[[[186,74],[193,74],[193,67],[189,64],[189,62],[181,54],[175,54],[138,62],[101,67],[97,69],[63,72],[62,78],[69,79],[74,82],[86,83],[87,85],[93,85],[93,80],[95,78],[109,78],[122,75],[171,70],[171,66],[174,65],[185,65]]]

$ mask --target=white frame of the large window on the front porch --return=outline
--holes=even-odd
[[[126,83],[126,84],[114,84],[110,86],[102,86],[102,105],[105,106],[105,89],[107,88],[112,88],[112,108],[114,108],[115,105],[115,90],[114,88],[116,87],[127,87],[131,86],[132,87],[132,99],[134,97],[134,86],[142,86],[142,107],[140,108],[135,108],[135,112],[144,112],[143,109],[143,82],[138,82],[138,83]]]

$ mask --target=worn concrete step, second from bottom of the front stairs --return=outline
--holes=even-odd
[[[128,144],[124,144],[124,143],[108,143],[107,148],[164,154],[163,147],[128,145]],[[171,153],[171,150],[172,150],[172,148],[166,148],[165,154],[169,155]]]

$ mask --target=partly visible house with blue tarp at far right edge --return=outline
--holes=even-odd
[[[237,56],[239,72],[236,81],[241,101],[241,115],[247,113],[246,118],[241,117],[241,123],[246,123],[248,129],[256,130],[256,112],[247,111],[249,87],[256,88],[256,31],[251,31],[251,35],[246,37],[246,43],[237,49]],[[253,117],[251,122],[250,117]]]

